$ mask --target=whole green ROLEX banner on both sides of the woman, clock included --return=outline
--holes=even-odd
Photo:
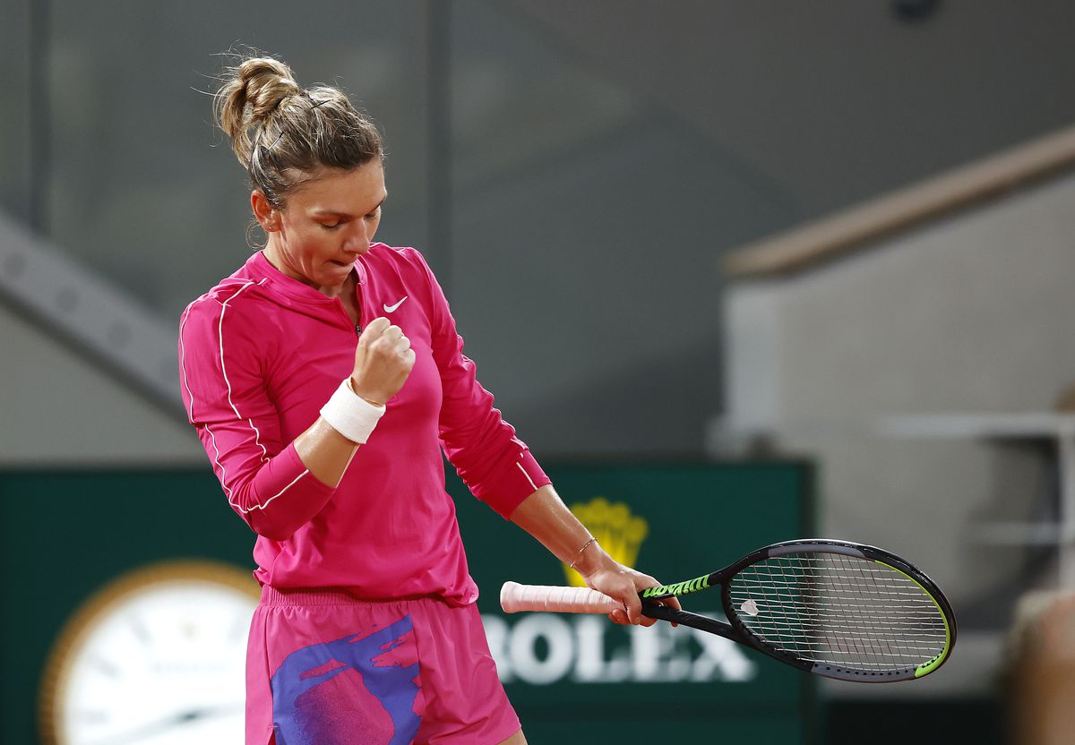
[[[662,582],[812,532],[812,475],[802,463],[547,468],[610,553]],[[482,588],[490,647],[530,743],[612,742],[643,732],[808,742],[812,682],[735,644],[663,622],[642,629],[604,616],[503,614],[498,596],[505,581],[563,585],[579,577],[475,500],[454,474],[448,490]],[[113,721],[117,742],[158,742],[146,734],[149,726],[118,720],[182,696],[163,688],[204,693],[217,676],[224,680],[217,710],[200,711],[197,722],[162,711],[152,726],[187,727],[186,741],[239,742],[211,732],[214,717],[232,728],[241,721],[235,659],[255,602],[254,536],[207,468],[0,472],[0,539],[8,590],[0,742],[76,741],[54,731],[51,712],[59,702],[51,697],[62,689],[57,670],[69,679],[99,680],[96,702],[72,711],[99,727]],[[685,605],[719,616],[717,592]],[[123,656],[115,640],[124,634],[152,664],[115,664]],[[150,655],[153,645],[160,648]]]

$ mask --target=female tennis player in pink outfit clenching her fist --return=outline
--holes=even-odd
[[[615,622],[651,625],[636,592],[659,583],[560,501],[476,381],[421,255],[374,242],[373,124],[271,58],[229,70],[215,102],[268,240],[183,313],[180,367],[190,422],[257,533],[246,742],[525,743],[442,447],[478,499],[622,603]]]

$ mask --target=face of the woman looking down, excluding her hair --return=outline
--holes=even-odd
[[[370,249],[387,196],[385,170],[375,159],[352,171],[322,171],[288,195],[283,210],[260,191],[250,202],[269,233],[266,258],[287,276],[335,297]]]

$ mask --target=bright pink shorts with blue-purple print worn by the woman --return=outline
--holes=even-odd
[[[476,606],[262,588],[246,745],[494,745],[518,730]]]

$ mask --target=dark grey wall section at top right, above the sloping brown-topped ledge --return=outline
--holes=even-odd
[[[1058,128],[1075,8],[941,0],[513,0],[563,49],[626,82],[783,195],[826,214]],[[719,245],[719,244],[718,244]]]

